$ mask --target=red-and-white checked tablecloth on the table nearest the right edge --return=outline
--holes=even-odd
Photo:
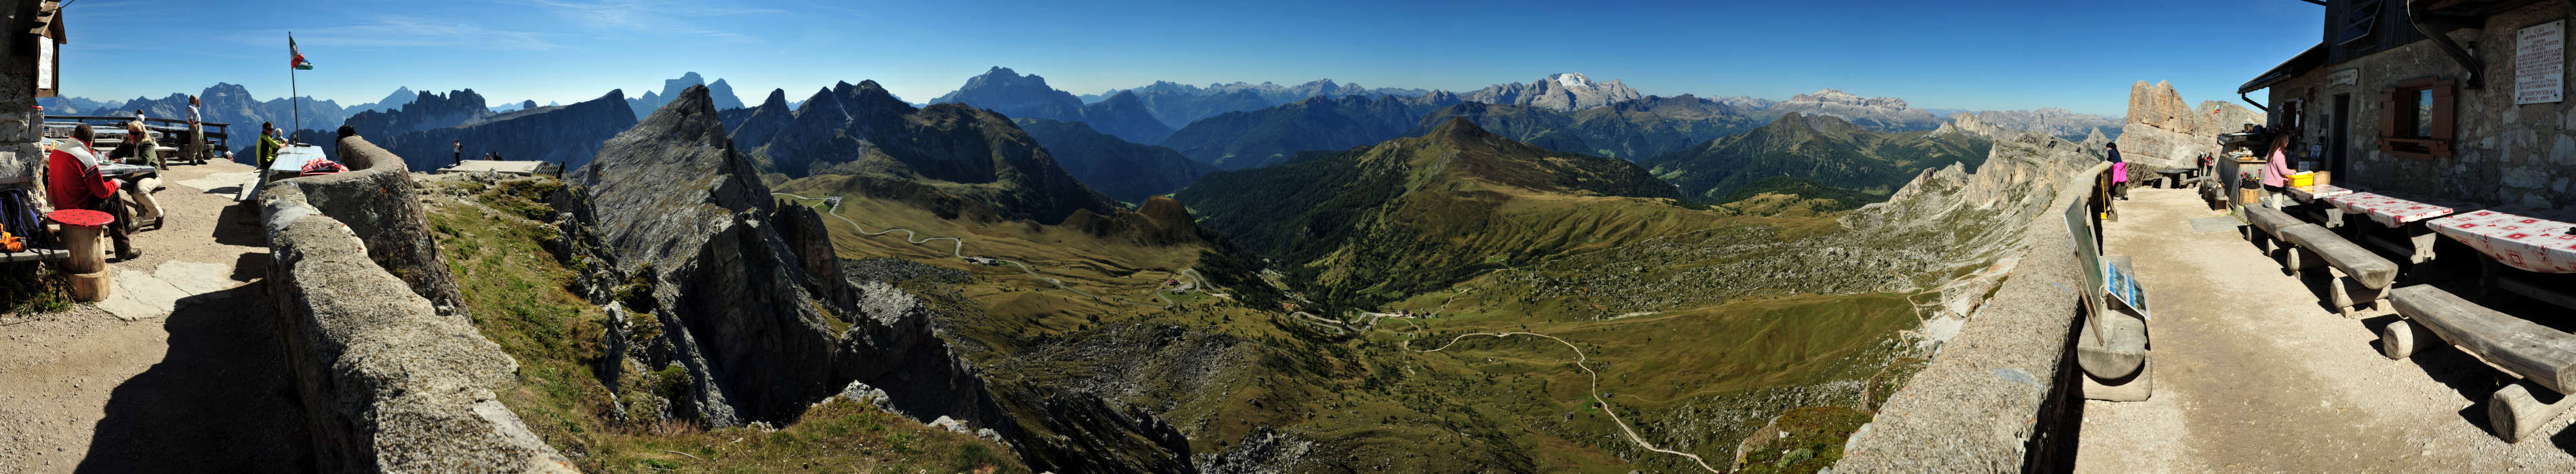
[[[2537,273],[2576,273],[2576,224],[2504,211],[2465,211],[2424,222],[2496,263]]]

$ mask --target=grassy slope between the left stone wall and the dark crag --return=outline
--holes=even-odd
[[[781,430],[616,415],[611,392],[649,399],[667,394],[677,374],[629,376],[623,386],[592,376],[605,314],[564,289],[572,268],[544,250],[554,229],[528,219],[551,216],[531,201],[544,191],[500,185],[474,204],[435,198],[428,219],[474,325],[520,363],[520,384],[500,394],[502,404],[582,471],[1028,471],[1002,446],[853,402],[814,407]]]

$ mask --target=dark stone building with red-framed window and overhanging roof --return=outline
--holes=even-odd
[[[2488,206],[2576,206],[2571,3],[2326,0],[2324,41],[2239,93],[2334,183]],[[2251,103],[2251,98],[2246,98]]]

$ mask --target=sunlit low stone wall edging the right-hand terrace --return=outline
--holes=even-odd
[[[2056,209],[2092,196],[2094,165],[2063,180],[2022,232],[2012,278],[1929,366],[1852,433],[1834,471],[2058,471],[2074,453],[2074,322],[2084,276]],[[2053,469],[2056,466],[2056,469]]]

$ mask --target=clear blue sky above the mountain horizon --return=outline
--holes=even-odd
[[[1649,95],[1788,98],[1819,88],[1919,108],[2123,113],[2128,85],[2187,100],[2318,41],[2300,0],[2164,3],[868,3],[868,0],[75,0],[64,95],[134,98],[247,85],[286,95],[286,31],[343,106],[397,85],[492,103],[659,90],[724,77],[742,100],[876,80],[930,100],[987,67],[1072,93],[1175,82],[1473,90],[1551,72]],[[185,26],[173,18],[191,18]],[[185,54],[173,54],[185,52]]]

